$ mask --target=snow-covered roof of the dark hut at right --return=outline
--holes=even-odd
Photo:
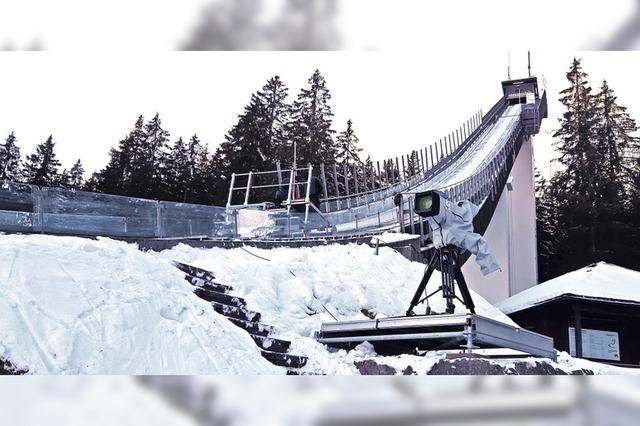
[[[565,295],[640,303],[640,272],[600,262],[531,287],[496,306],[511,314]]]

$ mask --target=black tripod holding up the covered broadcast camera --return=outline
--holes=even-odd
[[[427,315],[434,314],[431,312],[431,307],[429,306],[429,298],[439,291],[442,291],[442,297],[447,301],[447,314],[452,314],[455,311],[455,305],[453,304],[454,299],[458,299],[461,303],[463,303],[467,309],[472,314],[475,314],[475,305],[473,303],[473,299],[471,299],[471,294],[469,293],[469,288],[467,287],[467,283],[464,280],[464,276],[462,275],[462,271],[460,270],[460,252],[462,250],[456,246],[448,245],[439,249],[435,249],[435,253],[431,257],[427,269],[424,272],[422,280],[418,285],[416,293],[413,295],[413,299],[411,299],[411,305],[409,305],[409,309],[407,310],[407,316],[416,315],[413,312],[413,309],[416,305],[420,303],[427,302]],[[442,276],[442,285],[438,287],[437,290],[433,291],[430,294],[426,294],[426,287],[433,271],[438,269]],[[458,284],[458,288],[460,289],[460,294],[462,299],[460,299],[456,295],[455,283]],[[422,297],[422,294],[425,293],[426,296]]]

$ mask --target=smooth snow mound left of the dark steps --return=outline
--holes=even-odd
[[[192,291],[135,245],[0,236],[0,358],[41,374],[283,372]]]

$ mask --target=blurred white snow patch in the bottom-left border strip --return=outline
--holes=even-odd
[[[130,377],[8,377],[0,382],[6,425],[196,426]]]

